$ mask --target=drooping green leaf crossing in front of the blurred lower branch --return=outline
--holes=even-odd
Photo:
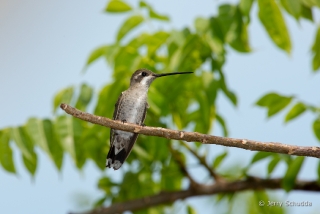
[[[296,157],[291,164],[288,165],[287,172],[281,182],[281,186],[285,191],[289,192],[294,187],[303,161],[304,157]]]

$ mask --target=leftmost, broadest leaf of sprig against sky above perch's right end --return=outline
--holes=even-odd
[[[256,102],[256,105],[268,108],[268,117],[271,117],[289,105],[291,100],[292,97],[285,97],[276,93],[269,93],[260,98]]]

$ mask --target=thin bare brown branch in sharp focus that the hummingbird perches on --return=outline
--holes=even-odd
[[[201,142],[203,144],[216,144],[221,146],[237,147],[252,151],[274,152],[288,155],[320,158],[320,147],[316,146],[294,146],[276,142],[259,142],[247,139],[219,137],[201,134],[198,132],[184,132],[160,127],[156,128],[148,126],[139,126],[136,124],[122,123],[120,121],[111,120],[105,117],[95,116],[86,112],[82,112],[64,103],[60,105],[60,108],[63,109],[66,113],[81,120],[127,132],[133,132],[150,136],[158,136],[173,140],[184,140],[188,142]]]

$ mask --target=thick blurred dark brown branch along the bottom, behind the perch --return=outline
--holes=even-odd
[[[159,194],[135,199],[127,202],[116,203],[109,207],[94,209],[86,214],[114,214],[124,211],[136,211],[160,204],[172,203],[179,199],[194,196],[213,195],[218,193],[234,193],[244,190],[281,189],[281,179],[260,179],[249,177],[243,181],[216,183],[213,185],[199,185],[197,189],[179,190],[175,192],[160,192]],[[295,190],[320,191],[317,181],[296,181]],[[75,213],[74,213],[75,214]]]

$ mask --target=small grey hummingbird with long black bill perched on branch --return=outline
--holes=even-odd
[[[144,126],[147,108],[149,108],[148,90],[150,84],[159,77],[190,74],[193,72],[173,72],[155,74],[148,69],[136,70],[130,79],[130,87],[121,93],[115,104],[113,120],[120,120],[123,123],[135,123]],[[129,156],[139,134],[110,130],[110,150],[107,156],[106,167],[119,169]]]

